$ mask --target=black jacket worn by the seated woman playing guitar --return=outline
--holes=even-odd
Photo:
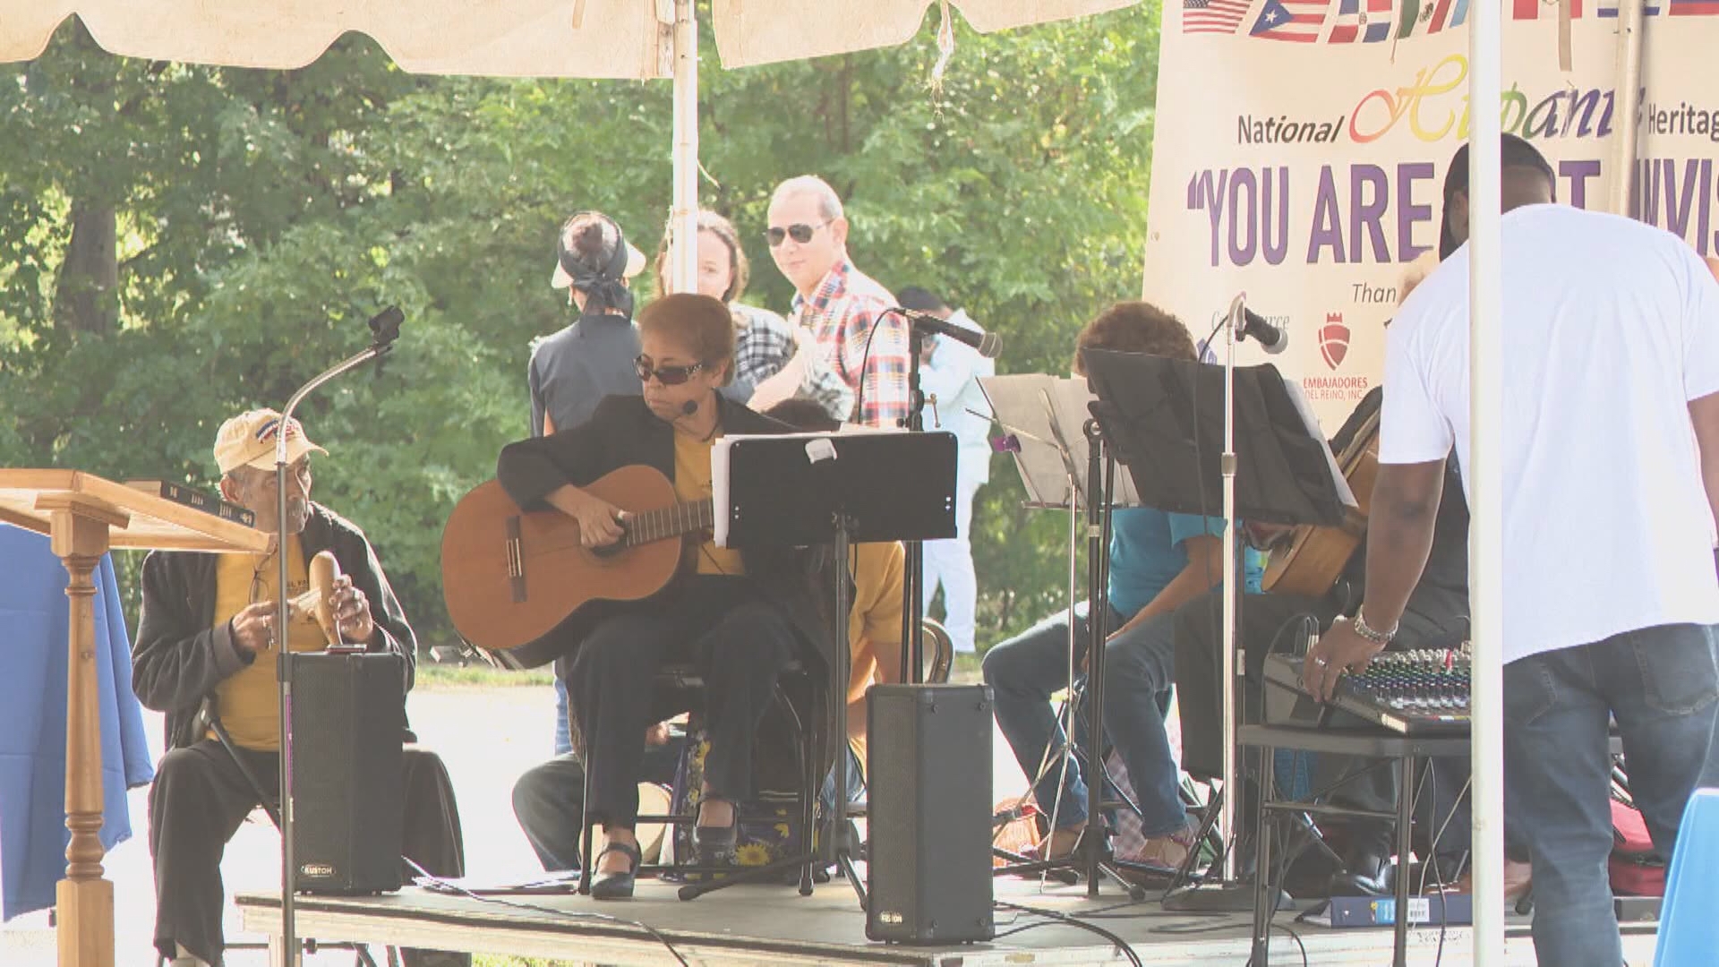
[[[720,394],[717,406],[722,432],[729,435],[796,432]],[[610,396],[578,427],[507,444],[495,477],[521,509],[541,511],[548,509],[543,497],[552,490],[566,484],[586,487],[598,477],[631,465],[652,466],[674,480],[674,427],[658,420],[639,396]],[[823,587],[818,575],[829,573],[827,566],[820,566],[823,557],[827,554],[818,551],[794,549],[748,551],[743,556],[746,578],[758,585],[765,601],[782,611],[801,642],[813,649],[808,657],[818,662],[834,659],[834,638],[823,604],[829,595],[815,590]],[[600,609],[596,613],[602,614]],[[578,649],[600,619],[583,616],[581,611],[555,631],[564,657]]]

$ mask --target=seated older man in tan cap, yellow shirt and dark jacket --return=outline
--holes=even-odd
[[[273,410],[253,410],[222,423],[215,439],[220,492],[277,532],[275,437],[287,434],[287,595],[309,588],[309,559],[333,554],[342,576],[333,588],[333,619],[347,642],[406,659],[406,687],[416,638],[388,588],[375,551],[349,521],[313,504],[313,444],[297,420],[282,428]],[[132,649],[132,688],[144,705],[167,712],[167,755],[150,790],[150,852],[155,857],[155,946],[175,967],[220,964],[220,857],[239,822],[258,805],[246,771],[277,795],[280,700],[275,659],[280,635],[278,545],[265,554],[158,551],[143,563],[143,614]],[[328,640],[311,614],[294,616],[292,650],[320,650]],[[199,721],[208,702],[234,752]],[[392,726],[390,726],[392,728]],[[399,728],[406,731],[406,711]],[[315,748],[303,750],[316,754]],[[433,754],[406,748],[404,850],[438,876],[464,872],[459,810],[447,769]],[[469,964],[466,955],[407,952],[409,965]]]

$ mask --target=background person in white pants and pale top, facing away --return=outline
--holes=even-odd
[[[952,310],[932,293],[909,286],[896,293],[902,308],[935,315],[975,332],[985,332],[964,311]],[[920,358],[920,389],[927,399],[927,430],[949,430],[959,446],[956,458],[956,535],[925,542],[925,607],[937,587],[944,588],[944,628],[957,652],[973,652],[973,609],[978,580],[973,575],[973,496],[990,480],[990,403],[978,387],[980,377],[997,373],[997,365],[978,349],[927,336]],[[935,399],[935,403],[933,403]]]

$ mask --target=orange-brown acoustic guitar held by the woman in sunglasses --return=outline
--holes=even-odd
[[[674,580],[681,537],[710,530],[710,501],[677,502],[674,484],[650,466],[622,466],[586,492],[627,511],[626,535],[584,547],[579,521],[521,511],[495,480],[461,497],[442,528],[442,588],[454,628],[473,645],[511,652],[507,664],[557,656],[528,649],[596,601],[639,601]]]

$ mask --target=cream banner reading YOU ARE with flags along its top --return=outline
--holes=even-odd
[[[1559,201],[1606,208],[1633,127],[1630,215],[1719,255],[1719,0],[1649,0],[1633,124],[1618,0],[1564,2],[1569,72],[1557,5],[1504,5],[1504,131],[1552,162]],[[1143,298],[1200,339],[1245,291],[1327,430],[1379,382],[1408,263],[1437,258],[1466,17],[1468,0],[1164,0]]]

